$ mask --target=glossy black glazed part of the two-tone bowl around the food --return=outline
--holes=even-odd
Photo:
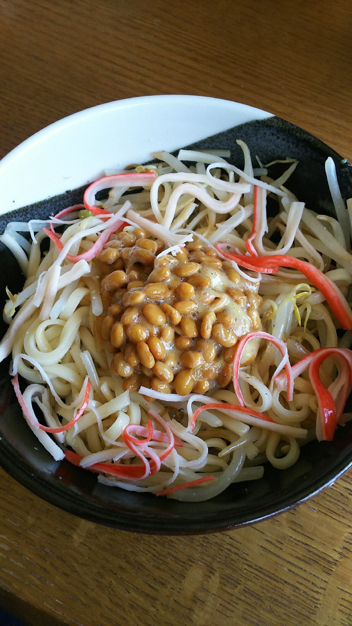
[[[231,160],[243,167],[242,150],[236,139],[246,141],[251,155],[263,163],[276,158],[296,158],[299,165],[287,187],[306,202],[308,208],[334,215],[324,171],[331,156],[336,165],[343,197],[352,197],[352,167],[324,143],[287,121],[272,117],[231,128],[199,141],[192,148],[228,148]],[[181,147],[181,146],[180,146]],[[256,166],[257,167],[257,164]],[[272,175],[276,172],[269,171]],[[49,201],[4,215],[0,232],[8,221],[48,217],[75,202],[83,189],[67,192]],[[11,253],[0,252],[0,294],[4,305],[5,287],[16,293],[21,274]],[[5,325],[1,334],[5,332]],[[235,483],[213,500],[184,503],[150,494],[109,488],[96,475],[76,468],[66,460],[57,463],[39,444],[23,419],[8,375],[9,359],[0,364],[0,464],[22,485],[41,498],[87,520],[142,533],[192,534],[227,530],[263,520],[319,493],[352,466],[352,422],[336,431],[331,443],[312,441],[301,449],[297,463],[281,471],[269,463],[261,480]]]

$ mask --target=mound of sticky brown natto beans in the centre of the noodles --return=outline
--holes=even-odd
[[[202,244],[157,258],[163,248],[136,228],[111,235],[98,255],[104,309],[98,326],[111,373],[122,376],[125,391],[205,393],[212,381],[226,387],[237,340],[261,327],[259,283],[242,279]],[[259,344],[247,346],[241,364],[256,357]]]

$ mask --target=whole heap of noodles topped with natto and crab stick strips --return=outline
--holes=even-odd
[[[207,500],[348,419],[352,200],[331,158],[337,219],[288,190],[297,161],[274,179],[237,143],[244,171],[162,151],[0,237],[26,279],[0,344],[24,418],[103,485]]]

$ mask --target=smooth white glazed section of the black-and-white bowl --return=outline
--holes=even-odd
[[[0,215],[97,180],[103,168],[116,167],[120,153],[122,167],[147,162],[152,151],[173,151],[272,115],[230,100],[174,94],[77,111],[34,133],[0,161]]]

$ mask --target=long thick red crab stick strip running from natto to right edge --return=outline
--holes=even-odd
[[[231,259],[238,265],[242,265],[242,267],[246,267],[246,269],[254,272],[273,274],[274,272],[278,272],[281,266],[292,267],[299,270],[299,272],[302,272],[302,274],[304,274],[308,280],[311,280],[317,289],[321,291],[341,326],[345,330],[352,330],[352,312],[343,294],[341,294],[341,291],[332,280],[311,263],[307,263],[301,259],[294,259],[294,257],[289,257],[286,254],[277,254],[270,257],[247,257],[243,254],[230,254],[220,247],[222,245],[227,244],[216,244],[215,248],[224,255],[226,259]]]

